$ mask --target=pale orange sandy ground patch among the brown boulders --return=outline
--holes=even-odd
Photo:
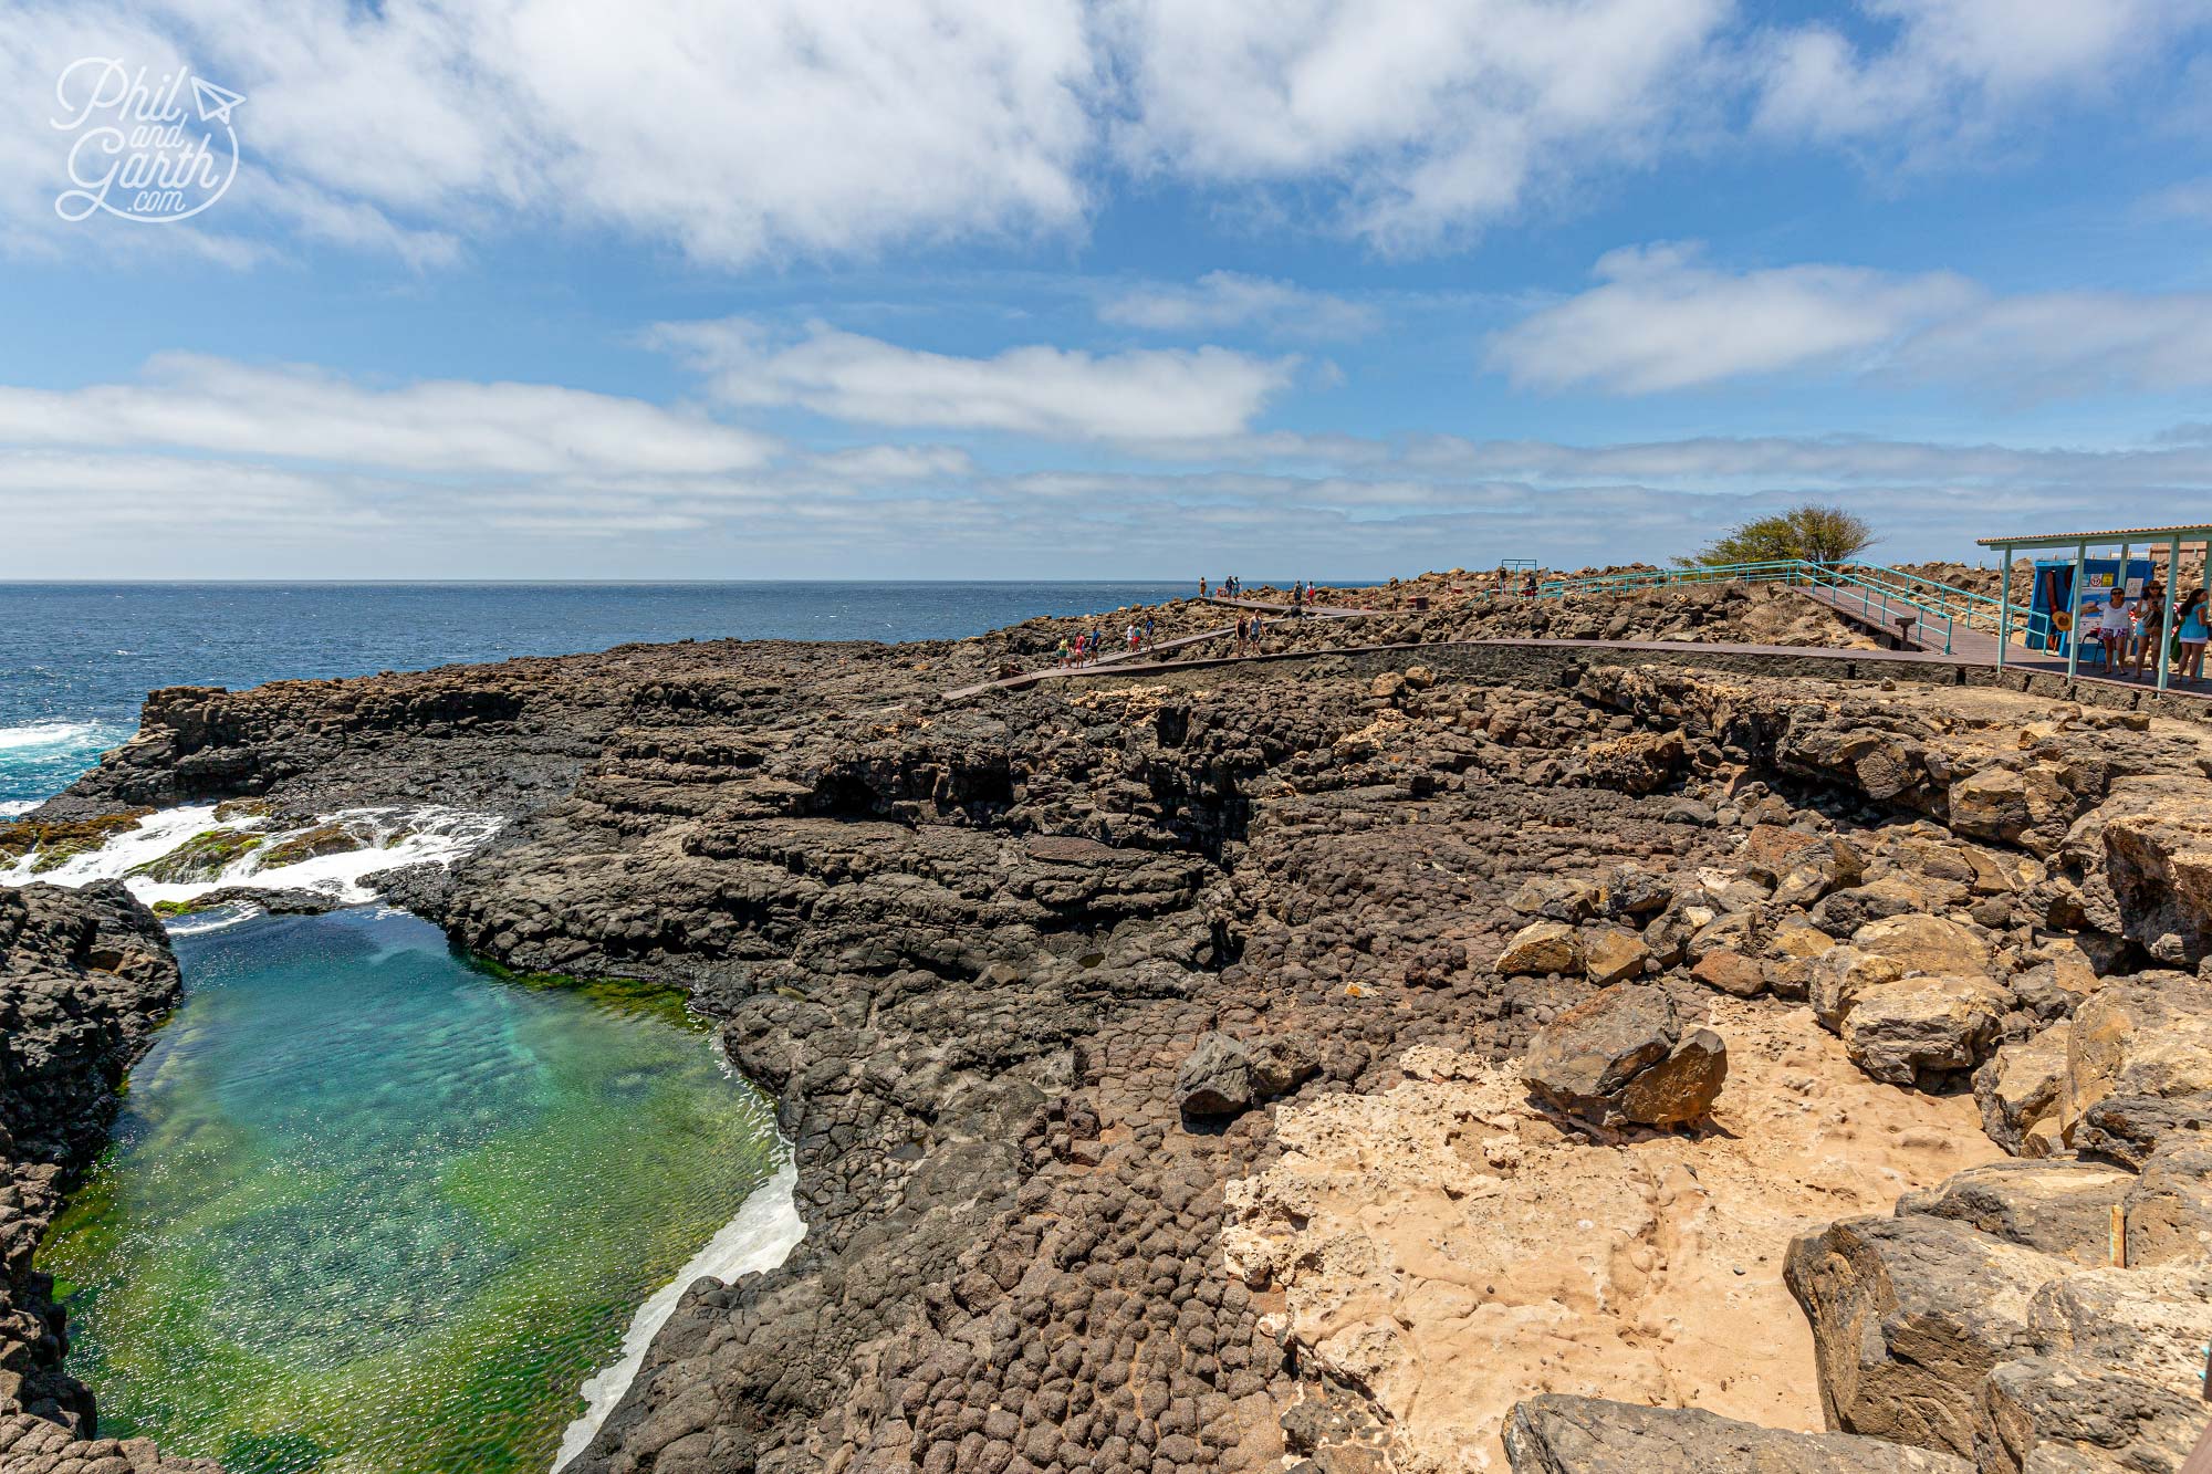
[[[1540,1392],[1823,1428],[1790,1239],[1997,1149],[1971,1102],[1876,1084],[1803,1007],[1714,998],[1712,1027],[1730,1084],[1703,1140],[1590,1144],[1511,1071],[1429,1047],[1387,1093],[1276,1113],[1283,1160],[1230,1186],[1228,1264],[1374,1392],[1407,1474],[1502,1467]]]

